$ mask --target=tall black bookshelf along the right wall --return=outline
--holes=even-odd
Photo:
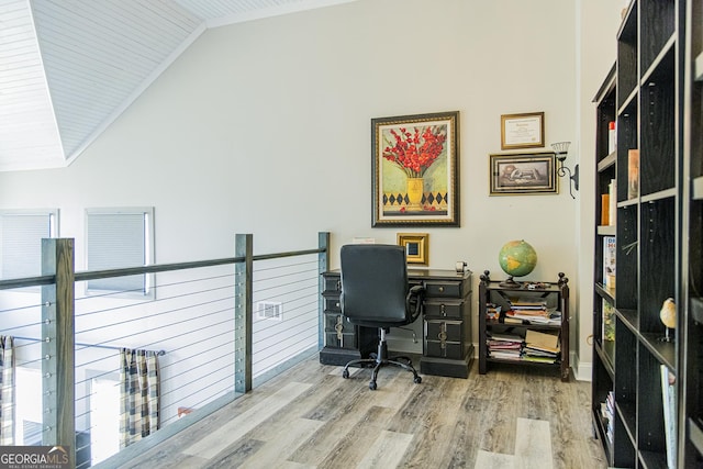
[[[592,412],[611,466],[666,468],[678,453],[681,327],[660,320],[665,300],[681,304],[683,57],[687,0],[633,0],[617,33],[617,62],[596,97],[596,190],[615,179],[615,226],[595,228]],[[615,152],[603,150],[605,119]],[[637,169],[632,152],[638,152]],[[603,283],[603,237],[614,235],[615,284]],[[603,335],[613,310],[614,340]],[[681,314],[679,315],[681,324]],[[666,338],[669,340],[666,340]],[[679,381],[662,386],[662,375]]]

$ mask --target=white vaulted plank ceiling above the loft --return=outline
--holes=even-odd
[[[207,29],[354,0],[0,0],[0,171],[70,164]]]

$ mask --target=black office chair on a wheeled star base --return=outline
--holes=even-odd
[[[349,361],[342,371],[349,378],[349,367],[375,366],[369,389],[375,390],[381,367],[395,366],[412,371],[414,381],[422,378],[406,356],[388,357],[386,334],[390,327],[413,323],[421,313],[424,288],[408,284],[405,249],[380,244],[349,244],[339,252],[342,264],[342,314],[352,324],[378,327],[378,351],[371,358]],[[402,360],[402,361],[401,361]]]

